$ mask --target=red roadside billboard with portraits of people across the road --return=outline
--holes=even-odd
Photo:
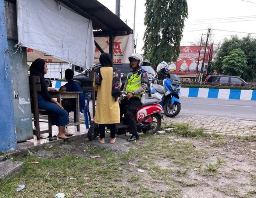
[[[168,62],[169,73],[195,74],[197,71],[200,72],[203,64],[203,56],[206,52],[205,64],[203,66],[204,74],[206,74],[209,62],[212,60],[213,44],[207,47],[202,46],[200,56],[199,50],[200,46],[181,46],[177,62]]]

